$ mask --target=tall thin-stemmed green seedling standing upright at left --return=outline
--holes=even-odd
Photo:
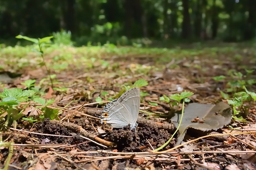
[[[44,51],[43,51],[44,47],[50,46],[50,42],[51,42],[51,39],[53,38],[53,36],[44,37],[42,39],[41,38],[36,39],[36,38],[29,38],[27,36],[18,35],[18,36],[16,36],[16,38],[25,39],[25,40],[34,42],[38,46],[39,50],[36,50],[36,51],[40,54],[40,56],[41,56],[41,58],[43,60],[42,64],[45,66],[45,69],[47,70],[47,74],[49,75],[49,78],[50,78],[50,81],[51,81],[51,85],[52,85],[52,88],[53,88],[53,81],[52,81],[52,78],[50,76],[51,72],[50,72],[50,70],[48,69],[48,67],[47,67],[47,65],[45,63]]]

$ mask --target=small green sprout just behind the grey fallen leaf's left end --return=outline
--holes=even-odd
[[[182,100],[184,100],[184,102],[190,102],[190,99],[188,99],[188,97],[192,96],[193,94],[193,92],[181,92],[180,94],[172,94],[169,97],[163,95],[162,97],[160,97],[160,100],[166,101],[170,105],[172,115],[173,113],[176,113],[180,102]],[[174,106],[176,106],[175,109]]]

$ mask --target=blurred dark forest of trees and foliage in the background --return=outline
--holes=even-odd
[[[77,46],[252,40],[255,6],[254,0],[0,1],[0,43],[16,44],[19,34],[38,38],[61,30],[70,31]]]

